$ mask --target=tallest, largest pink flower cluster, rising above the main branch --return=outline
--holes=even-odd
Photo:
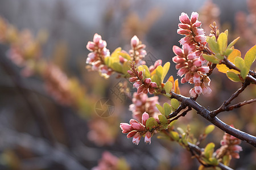
[[[209,72],[209,67],[204,66],[205,60],[201,57],[204,46],[207,43],[204,36],[203,29],[199,29],[201,22],[198,20],[197,12],[192,12],[191,19],[188,15],[181,13],[179,29],[177,33],[185,35],[180,43],[183,45],[182,49],[178,46],[173,46],[172,50],[176,54],[172,58],[179,69],[177,75],[183,76],[181,83],[189,82],[195,84],[189,93],[192,97],[196,95],[210,94],[212,90],[209,88],[210,79],[206,75]]]

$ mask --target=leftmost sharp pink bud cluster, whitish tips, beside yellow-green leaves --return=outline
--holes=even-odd
[[[105,57],[110,56],[109,50],[106,48],[106,41],[101,39],[97,33],[93,37],[93,42],[89,41],[86,48],[91,51],[88,54],[86,63],[92,65],[92,69],[99,71],[101,75],[108,78],[112,74],[112,69],[105,65]]]

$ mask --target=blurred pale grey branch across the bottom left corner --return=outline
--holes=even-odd
[[[29,150],[34,152],[34,154],[39,155],[40,161],[43,161],[43,163],[52,164],[55,162],[63,165],[65,169],[86,170],[86,168],[82,166],[79,162],[77,162],[77,160],[69,154],[68,150],[59,143],[55,143],[56,145],[55,147],[53,147],[42,138],[34,138],[28,134],[18,133],[1,125],[0,134],[1,150],[3,150],[4,148],[15,148],[16,146],[21,146],[24,148],[28,148]],[[34,165],[38,165],[38,163]],[[24,166],[26,166],[26,164]],[[32,169],[38,168],[34,167]]]

